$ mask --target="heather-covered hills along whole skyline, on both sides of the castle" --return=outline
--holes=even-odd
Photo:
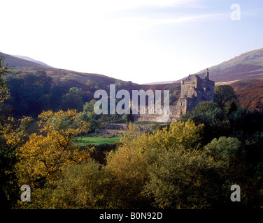
[[[13,72],[34,73],[38,70],[45,70],[46,74],[52,77],[56,84],[64,83],[69,87],[80,87],[84,91],[92,91],[90,86],[86,84],[87,81],[95,82],[100,89],[107,89],[109,84],[116,84],[117,89],[127,89],[128,91],[170,89],[170,93],[173,93],[172,91],[175,89],[178,91],[180,86],[180,80],[173,83],[135,84],[106,75],[52,68],[43,62],[34,61],[34,59],[26,56],[16,57],[1,52],[0,56],[5,57],[5,63],[8,63],[8,67],[12,68]],[[208,69],[210,79],[214,80],[216,85],[230,84],[234,88],[242,107],[257,108],[263,111],[263,48],[243,53]],[[197,72],[199,75],[204,75],[204,73],[205,70]],[[176,98],[173,98],[172,101],[177,100],[178,96],[176,94]]]

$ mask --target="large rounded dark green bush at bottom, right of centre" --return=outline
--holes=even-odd
[[[150,164],[144,194],[157,208],[212,208],[222,199],[225,167],[200,151],[176,148],[161,151]]]

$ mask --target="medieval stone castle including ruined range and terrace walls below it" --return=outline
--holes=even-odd
[[[138,134],[150,132],[154,129],[154,125],[143,125],[143,123],[157,123],[157,118],[162,120],[163,116],[168,117],[163,123],[176,122],[181,114],[190,112],[200,102],[213,101],[214,88],[215,82],[209,79],[208,69],[203,75],[189,75],[187,79],[181,82],[180,98],[176,105],[169,105],[168,110],[161,106],[158,109],[162,109],[162,114],[157,114],[156,107],[153,109],[154,111],[149,111],[147,106],[142,108],[143,111],[140,111],[141,108],[138,107],[138,114],[131,114],[131,121],[137,123]],[[132,102],[130,103],[130,109],[132,109]],[[97,129],[96,132],[120,135],[122,130],[127,130],[127,128],[127,123],[106,123],[104,129]]]

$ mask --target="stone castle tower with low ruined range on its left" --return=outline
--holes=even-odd
[[[215,82],[209,79],[208,69],[206,69],[205,75],[189,75],[181,82],[180,98],[177,104],[169,106],[169,122],[175,122],[181,114],[190,112],[200,102],[213,101],[214,88]],[[145,110],[148,111],[148,107]],[[138,112],[138,114],[132,115],[132,119],[135,122],[156,122],[158,116],[160,115],[157,112],[154,114],[140,114]]]

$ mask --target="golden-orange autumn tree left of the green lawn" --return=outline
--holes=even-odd
[[[29,135],[20,148],[17,174],[20,183],[40,187],[55,185],[61,171],[71,162],[89,160],[87,151],[80,151],[75,137],[86,134],[88,124],[78,118],[76,110],[43,112],[38,116],[39,132]]]

